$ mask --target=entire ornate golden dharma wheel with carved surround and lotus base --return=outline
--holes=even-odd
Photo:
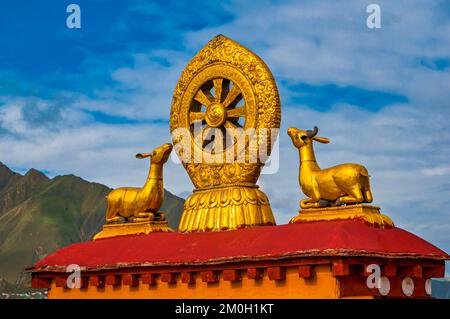
[[[195,186],[180,231],[275,224],[256,185],[267,158],[255,154],[270,155],[280,113],[269,68],[240,44],[219,35],[189,62],[170,115],[175,150]]]

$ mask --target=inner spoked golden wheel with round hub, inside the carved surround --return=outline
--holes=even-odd
[[[182,112],[182,121],[186,121],[194,141],[193,154],[197,151],[208,162],[219,154],[216,162],[225,161],[227,156],[234,160],[237,154],[233,146],[243,136],[230,132],[256,126],[255,98],[247,79],[230,66],[211,65],[193,79],[183,102],[187,112]]]

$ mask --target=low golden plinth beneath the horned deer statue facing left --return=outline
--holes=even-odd
[[[336,219],[362,219],[378,227],[394,227],[392,220],[380,212],[380,208],[372,205],[349,205],[303,209],[289,223],[304,223]]]

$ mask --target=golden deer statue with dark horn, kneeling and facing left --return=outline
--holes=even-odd
[[[321,207],[319,201],[332,202],[333,205],[371,203],[369,173],[359,164],[342,164],[327,169],[320,169],[314,155],[313,141],[329,143],[324,137],[317,137],[319,129],[299,130],[289,128],[288,135],[299,150],[300,187],[309,198],[300,201],[300,207]]]

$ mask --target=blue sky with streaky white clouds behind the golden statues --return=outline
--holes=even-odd
[[[382,28],[366,27],[366,6]],[[173,89],[187,62],[224,34],[260,55],[282,100],[280,169],[263,175],[279,223],[302,197],[285,130],[311,128],[323,167],[358,162],[375,204],[450,251],[448,1],[69,1],[0,3],[0,161],[19,171],[140,185],[134,159],[170,140]],[[192,190],[171,162],[166,187]]]

